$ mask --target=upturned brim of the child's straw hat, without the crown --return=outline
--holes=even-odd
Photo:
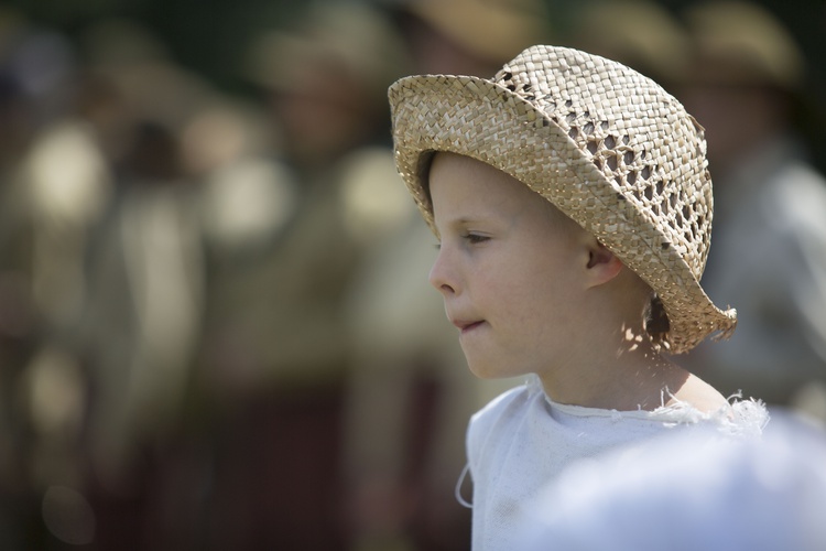
[[[552,118],[508,88],[470,76],[422,75],[389,89],[395,161],[427,225],[427,153],[449,151],[488,163],[539,193],[594,234],[657,293],[672,354],[709,335],[727,337],[733,309],[715,306],[670,239],[610,182]]]

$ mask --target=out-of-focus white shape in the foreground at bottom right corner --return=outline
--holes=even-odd
[[[566,469],[519,551],[823,551],[826,432],[782,410],[761,439],[671,431]]]

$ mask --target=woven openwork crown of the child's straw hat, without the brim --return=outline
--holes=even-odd
[[[567,133],[699,280],[710,241],[711,180],[704,130],[677,99],[624,65],[553,46],[525,50],[493,80]]]

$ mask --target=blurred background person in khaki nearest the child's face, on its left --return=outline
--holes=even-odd
[[[302,8],[257,36],[247,63],[279,139],[282,223],[257,247],[211,253],[198,392],[213,415],[214,549],[347,547],[343,431],[358,366],[344,307],[394,223],[385,95],[405,52],[369,4]]]

